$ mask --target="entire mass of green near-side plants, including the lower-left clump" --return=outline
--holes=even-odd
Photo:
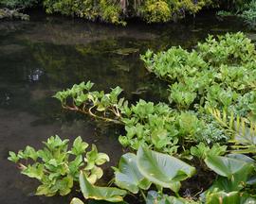
[[[111,158],[80,137],[71,145],[53,136],[40,150],[9,152],[22,174],[41,182],[36,195],[67,195],[79,183],[83,198],[72,204],[127,203],[127,195],[147,204],[256,203],[255,45],[228,33],[192,50],[148,50],[140,58],[168,84],[168,102],[132,104],[120,87],[104,93],[90,81],[54,95],[64,110],[123,128],[117,140],[127,153],[110,185],[97,181]]]

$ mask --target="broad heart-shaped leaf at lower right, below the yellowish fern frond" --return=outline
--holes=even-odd
[[[208,156],[205,162],[216,174],[227,178],[231,178],[234,174],[245,169],[248,171],[253,167],[251,162],[221,156]]]

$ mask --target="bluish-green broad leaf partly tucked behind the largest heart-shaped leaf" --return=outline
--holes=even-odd
[[[121,156],[119,168],[115,171],[115,183],[133,194],[137,194],[139,188],[147,190],[151,185],[151,182],[140,174],[137,156],[132,153]]]

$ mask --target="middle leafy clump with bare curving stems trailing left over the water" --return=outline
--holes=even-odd
[[[205,113],[178,111],[167,104],[139,100],[130,105],[119,98],[121,89],[110,93],[91,91],[93,83],[82,82],[71,89],[56,93],[54,97],[62,102],[67,110],[88,113],[97,119],[115,122],[125,126],[126,135],[119,136],[124,147],[137,150],[143,144],[152,149],[176,154],[179,144],[203,141],[214,143],[227,140],[226,133]],[[210,123],[199,120],[204,117]]]

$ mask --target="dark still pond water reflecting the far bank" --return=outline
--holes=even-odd
[[[71,141],[81,135],[110,156],[106,174],[119,160],[121,129],[62,110],[53,93],[91,80],[99,90],[119,85],[131,101],[165,100],[166,85],[146,72],[140,53],[192,48],[208,34],[239,30],[247,32],[237,19],[219,21],[213,13],[158,26],[109,26],[38,13],[29,22],[0,22],[0,203],[67,204],[71,197],[34,196],[38,183],[7,161],[9,150],[40,147],[55,134]]]

